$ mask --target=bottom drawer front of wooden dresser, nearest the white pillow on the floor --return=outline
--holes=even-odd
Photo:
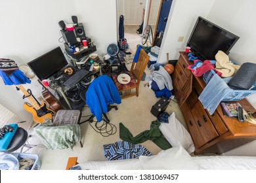
[[[182,105],[181,111],[182,114],[184,114],[184,119],[186,121],[186,125],[188,127],[188,131],[190,132],[194,145],[196,146],[196,148],[200,148],[201,146],[203,146],[203,144],[206,143],[206,141],[203,139],[187,103],[184,103]]]

